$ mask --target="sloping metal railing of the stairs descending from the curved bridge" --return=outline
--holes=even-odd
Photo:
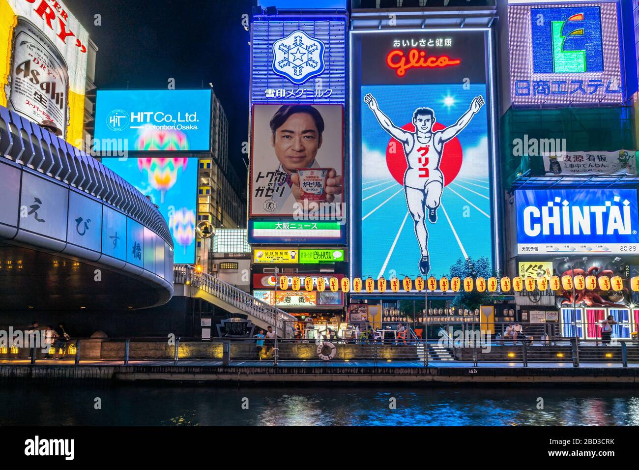
[[[289,338],[292,333],[292,322],[295,321],[293,315],[285,311],[256,299],[242,289],[238,289],[229,283],[215,278],[206,272],[199,272],[191,265],[176,264],[173,269],[174,283],[194,286],[214,295],[218,299],[231,304],[240,309],[243,313],[248,313],[259,318],[263,322],[277,327],[277,335]]]

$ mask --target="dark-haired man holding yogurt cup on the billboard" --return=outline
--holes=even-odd
[[[277,212],[293,212],[295,203],[303,208],[304,200],[340,202],[342,176],[316,160],[324,128],[318,109],[309,105],[284,105],[273,114],[271,145],[279,161],[277,171],[286,173]]]

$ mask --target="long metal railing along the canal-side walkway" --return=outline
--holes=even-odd
[[[445,354],[443,354],[443,352]],[[234,361],[262,361],[285,364],[305,361],[317,363],[374,363],[414,367],[446,363],[460,367],[558,367],[593,366],[638,367],[639,342],[595,340],[551,341],[550,344],[498,340],[484,344],[447,344],[442,341],[371,338],[182,338],[169,334],[147,338],[70,338],[68,341],[21,344],[0,340],[2,364],[51,364],[54,359],[75,364],[233,364]],[[106,361],[106,362],[105,362]],[[252,364],[252,363],[251,363]],[[245,364],[249,365],[249,364]],[[254,365],[254,364],[253,364]],[[303,365],[303,364],[302,364]],[[353,364],[353,366],[357,366]]]

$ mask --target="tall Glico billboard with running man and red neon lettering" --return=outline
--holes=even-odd
[[[492,259],[489,31],[351,33],[353,276]]]

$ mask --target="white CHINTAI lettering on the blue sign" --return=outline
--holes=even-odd
[[[523,209],[523,230],[528,237],[538,235],[633,235],[630,202],[619,196],[603,205],[571,206],[555,198],[539,207]],[[555,203],[557,205],[555,205]]]

